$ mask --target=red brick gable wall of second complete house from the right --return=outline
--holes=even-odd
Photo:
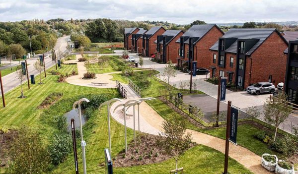
[[[197,67],[209,68],[210,47],[212,47],[224,34],[217,27],[213,27],[194,47],[194,60],[197,60]]]

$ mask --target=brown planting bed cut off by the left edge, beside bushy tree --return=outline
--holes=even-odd
[[[0,167],[4,167],[7,165],[7,153],[11,148],[11,142],[13,141],[13,138],[16,136],[16,130],[9,130],[7,133],[0,134]]]

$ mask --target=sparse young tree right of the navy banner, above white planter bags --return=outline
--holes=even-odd
[[[279,93],[272,101],[266,100],[263,105],[265,120],[275,126],[274,142],[279,125],[284,122],[292,112],[292,108],[288,105],[287,96],[284,93]]]

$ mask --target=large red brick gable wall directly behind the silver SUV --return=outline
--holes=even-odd
[[[286,75],[287,56],[283,53],[288,45],[276,33],[271,36],[251,55],[252,72],[251,83],[268,81],[272,75],[272,82],[277,85],[284,82]],[[246,62],[249,62],[248,58]],[[248,67],[249,66],[249,67]],[[246,63],[245,86],[249,83],[250,63]]]

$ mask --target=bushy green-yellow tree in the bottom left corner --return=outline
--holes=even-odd
[[[21,126],[9,150],[10,174],[43,174],[48,169],[49,153],[36,130]]]

